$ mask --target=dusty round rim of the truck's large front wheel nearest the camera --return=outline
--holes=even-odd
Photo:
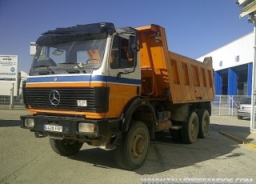
[[[134,136],[131,145],[131,154],[134,158],[139,158],[140,156],[142,156],[145,150],[145,143],[145,138],[142,134],[138,133]]]

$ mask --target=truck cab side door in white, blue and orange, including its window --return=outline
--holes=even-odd
[[[118,117],[131,98],[138,95],[140,70],[134,58],[128,58],[129,39],[115,35],[110,49],[107,86],[110,87],[109,113]],[[109,114],[109,115],[110,115]]]

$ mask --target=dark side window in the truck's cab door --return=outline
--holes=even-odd
[[[114,36],[114,42],[110,54],[110,68],[123,69],[131,68],[134,62],[127,57],[128,39]]]

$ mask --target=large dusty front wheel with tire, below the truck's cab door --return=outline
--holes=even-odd
[[[150,147],[150,134],[143,122],[133,122],[128,133],[122,135],[122,143],[114,151],[118,166],[137,170],[146,161]]]

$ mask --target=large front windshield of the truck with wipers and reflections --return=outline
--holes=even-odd
[[[47,38],[38,43],[30,75],[79,74],[98,69],[106,34],[75,34]]]

